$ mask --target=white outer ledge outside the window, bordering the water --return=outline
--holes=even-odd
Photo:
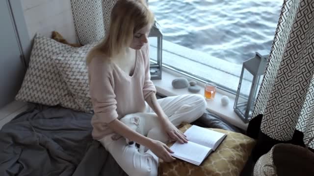
[[[150,58],[156,61],[157,38],[152,37],[149,40]],[[208,53],[166,40],[162,40],[162,63],[218,83],[230,90],[237,90],[242,70],[242,64],[230,63]],[[241,92],[248,94],[251,82],[247,80],[246,75],[242,80],[242,84],[245,86],[242,87]]]

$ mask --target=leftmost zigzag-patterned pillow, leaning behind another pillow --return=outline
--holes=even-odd
[[[61,100],[73,102],[73,97],[54,66],[52,57],[75,49],[67,44],[61,44],[36,34],[29,59],[29,67],[15,99],[48,106],[58,105]]]

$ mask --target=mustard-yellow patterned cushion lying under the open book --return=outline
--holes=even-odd
[[[186,124],[180,128],[180,131],[185,132],[190,127],[190,124]],[[239,176],[251,154],[255,140],[237,132],[221,129],[210,130],[226,133],[227,137],[200,166],[180,159],[171,163],[159,159],[159,176]],[[170,147],[172,144],[170,143],[168,146]]]

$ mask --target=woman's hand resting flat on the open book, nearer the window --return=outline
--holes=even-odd
[[[163,120],[162,127],[170,140],[177,140],[180,143],[187,143],[186,135],[178,130],[168,119]]]

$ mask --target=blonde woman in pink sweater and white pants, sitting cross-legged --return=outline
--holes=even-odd
[[[114,5],[105,40],[87,56],[90,95],[94,116],[93,138],[99,140],[120,167],[130,176],[157,176],[158,157],[175,160],[164,143],[129,129],[119,119],[135,112],[156,112],[162,129],[171,140],[187,142],[176,126],[192,122],[205,111],[206,101],[200,95],[156,98],[150,80],[148,33],[154,15],[142,0],[118,0]],[[146,102],[146,103],[145,103]],[[126,145],[129,138],[149,150],[140,154],[135,146]],[[163,141],[165,142],[165,141]]]

